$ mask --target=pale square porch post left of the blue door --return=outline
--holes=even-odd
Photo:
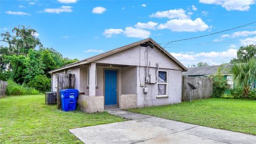
[[[95,96],[95,89],[96,89],[96,86],[95,86],[95,79],[96,79],[96,63],[92,62],[90,63],[90,71],[89,71],[89,75],[90,75],[90,79],[89,79],[89,97],[92,97],[92,96]]]

